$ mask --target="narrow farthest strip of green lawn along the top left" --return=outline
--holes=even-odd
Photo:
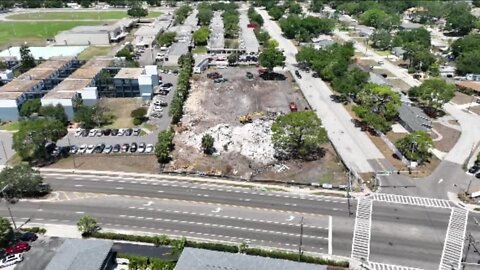
[[[148,13],[149,18],[160,16],[161,12]],[[118,20],[127,17],[126,11],[72,11],[72,12],[31,12],[7,16],[9,20]]]

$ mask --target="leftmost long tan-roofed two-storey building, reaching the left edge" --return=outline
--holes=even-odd
[[[47,60],[0,87],[0,119],[18,120],[25,101],[43,97],[78,65],[75,58]]]

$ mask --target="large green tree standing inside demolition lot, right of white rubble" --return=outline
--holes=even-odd
[[[312,111],[288,113],[272,124],[272,142],[280,158],[317,159],[327,141],[327,132]]]

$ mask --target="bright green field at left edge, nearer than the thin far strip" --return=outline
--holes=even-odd
[[[0,22],[0,47],[28,42],[30,45],[45,43],[58,32],[79,25],[98,25],[98,21],[68,22]]]

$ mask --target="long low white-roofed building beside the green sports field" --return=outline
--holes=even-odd
[[[122,19],[111,25],[77,26],[55,36],[59,45],[109,45],[128,35],[133,19]]]

